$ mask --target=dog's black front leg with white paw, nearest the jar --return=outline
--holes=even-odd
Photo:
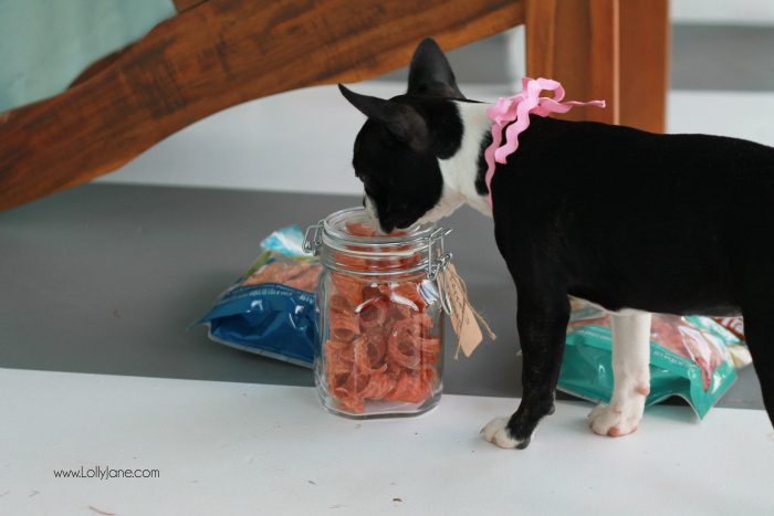
[[[534,306],[520,295],[516,324],[523,358],[522,402],[510,419],[495,418],[481,431],[487,441],[501,447],[526,447],[540,420],[554,412],[569,304],[564,296],[552,309]]]

